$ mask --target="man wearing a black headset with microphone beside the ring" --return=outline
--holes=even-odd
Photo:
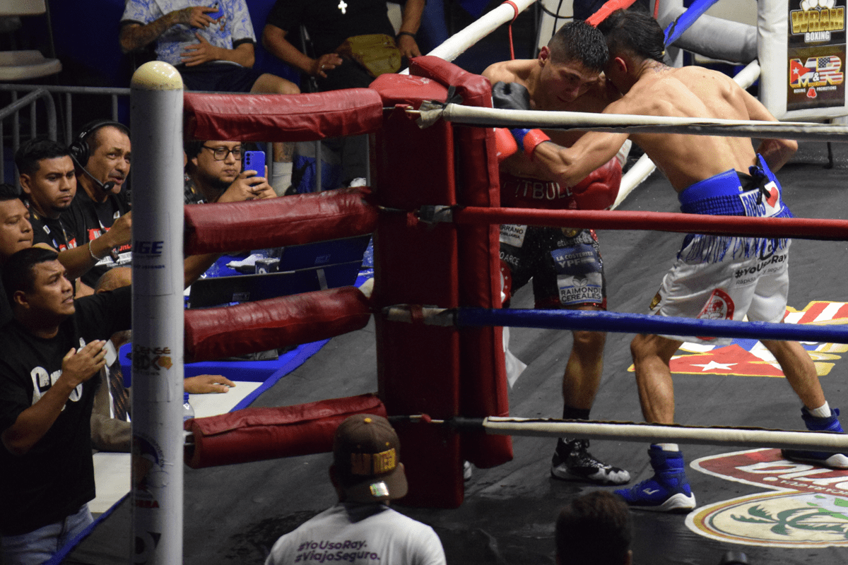
[[[84,125],[70,145],[82,190],[76,191],[61,219],[76,246],[85,247],[96,263],[82,276],[92,288],[107,270],[131,261],[131,206],[121,190],[130,174],[130,152],[130,130],[109,120]],[[98,241],[107,232],[108,240]]]

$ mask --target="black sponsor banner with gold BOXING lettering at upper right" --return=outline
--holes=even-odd
[[[845,5],[789,0],[786,109],[845,106]]]

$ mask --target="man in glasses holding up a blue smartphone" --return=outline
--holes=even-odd
[[[187,141],[186,202],[243,202],[274,198],[263,170],[242,170],[240,141]]]

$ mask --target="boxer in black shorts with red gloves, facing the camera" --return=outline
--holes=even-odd
[[[537,59],[491,65],[483,76],[494,85],[494,107],[600,112],[620,94],[600,75],[607,53],[599,38],[600,32],[594,27],[575,21],[563,25]],[[575,186],[565,186],[553,181],[554,171],[540,169],[529,158],[534,144],[548,136],[539,130],[527,131],[521,152],[509,130],[495,133],[501,159],[501,206],[587,210],[608,208],[615,202],[622,174],[616,158]],[[582,135],[548,133],[566,146]],[[510,285],[511,280],[511,290],[505,289],[507,303],[511,293],[533,279],[537,308],[605,309],[603,263],[593,231],[504,225],[500,241],[505,283]],[[606,335],[581,330],[572,335],[572,351],[562,378],[562,417],[589,419],[603,372]],[[588,448],[589,440],[561,438],[550,473],[557,479],[601,484],[621,485],[630,480],[626,470],[599,461]]]

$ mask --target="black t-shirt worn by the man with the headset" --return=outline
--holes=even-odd
[[[109,231],[114,220],[129,211],[130,205],[123,194],[109,194],[105,202],[94,202],[86,191],[76,191],[74,202],[62,213],[61,220],[68,237],[74,239],[77,246],[84,246],[88,241],[95,240]],[[107,255],[82,275],[82,282],[93,288],[101,275],[109,269],[118,265],[129,265],[132,259],[131,246],[121,246],[117,251],[120,256],[117,263]]]

